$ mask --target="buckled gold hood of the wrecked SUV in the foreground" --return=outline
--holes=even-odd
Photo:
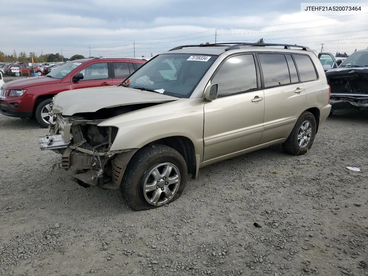
[[[60,92],[54,97],[53,112],[72,116],[102,108],[135,103],[166,103],[179,98],[123,86],[93,87]]]

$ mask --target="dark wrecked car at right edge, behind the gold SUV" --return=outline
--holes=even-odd
[[[331,87],[331,114],[335,110],[368,110],[368,50],[349,56],[338,68],[326,71]]]

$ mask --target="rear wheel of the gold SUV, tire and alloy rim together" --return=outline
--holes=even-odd
[[[289,137],[282,144],[287,153],[302,155],[311,148],[316,136],[317,124],[313,114],[305,111],[298,118]]]

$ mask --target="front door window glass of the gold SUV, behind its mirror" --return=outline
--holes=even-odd
[[[218,84],[219,97],[256,89],[257,73],[254,56],[244,54],[230,57],[217,71],[211,84]]]

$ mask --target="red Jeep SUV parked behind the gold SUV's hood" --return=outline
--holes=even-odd
[[[86,58],[68,61],[44,77],[17,79],[0,90],[0,113],[36,118],[40,125],[55,123],[50,103],[59,92],[118,85],[147,61],[144,58]]]

